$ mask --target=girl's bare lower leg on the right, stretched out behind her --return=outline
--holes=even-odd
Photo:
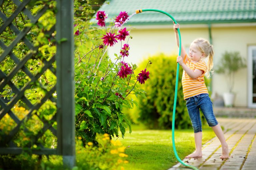
[[[220,143],[221,143],[222,155],[220,156],[220,158],[229,158],[228,144],[225,140],[225,136],[220,127],[220,124],[212,127],[212,129],[213,129],[214,133],[216,134],[216,136],[219,138]]]

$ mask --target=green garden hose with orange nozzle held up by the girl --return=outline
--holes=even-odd
[[[163,13],[165,15],[167,15],[168,17],[170,17],[175,24],[177,24],[177,21],[167,12],[161,11],[161,10],[157,10],[157,9],[138,9],[136,10],[136,14],[138,13],[142,13],[145,11],[155,11],[155,12],[160,12]],[[180,29],[178,28],[178,35],[179,35],[179,55],[181,54],[181,36],[180,36]],[[176,83],[175,83],[175,93],[174,93],[174,102],[173,102],[173,112],[172,112],[172,146],[173,146],[173,151],[174,151],[174,155],[176,157],[176,159],[182,164],[185,165],[188,168],[194,169],[194,170],[198,170],[196,167],[191,166],[191,165],[187,165],[185,164],[178,156],[177,151],[176,151],[176,147],[175,147],[175,140],[174,140],[174,123],[175,123],[175,111],[176,111],[176,102],[177,102],[177,92],[178,92],[178,81],[179,81],[179,68],[180,65],[179,63],[177,63],[177,72],[176,72]]]

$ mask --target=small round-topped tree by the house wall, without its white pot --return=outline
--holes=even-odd
[[[229,92],[232,93],[234,87],[235,73],[246,67],[245,59],[241,57],[238,51],[222,54],[221,61],[217,65],[216,73],[226,74],[228,77]]]

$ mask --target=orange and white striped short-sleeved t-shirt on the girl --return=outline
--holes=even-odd
[[[191,69],[191,70],[202,70],[204,71],[202,75],[197,77],[196,79],[192,79],[189,75],[183,70],[182,74],[182,87],[183,87],[183,94],[184,99],[199,95],[199,94],[208,94],[207,87],[204,83],[204,75],[207,70],[207,65],[204,61],[199,62],[192,62],[187,54],[184,57],[184,63]]]

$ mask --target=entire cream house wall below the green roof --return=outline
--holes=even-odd
[[[127,27],[127,29],[129,29]],[[178,54],[178,47],[175,42],[174,31],[172,27],[162,29],[156,28],[132,28],[130,35],[133,37],[129,40],[129,56],[125,57],[125,61],[129,63],[139,64],[140,61],[146,59],[150,55],[156,53]],[[227,51],[239,51],[240,54],[247,58],[247,47],[256,45],[256,26],[236,26],[222,27],[221,25],[212,26],[212,43],[214,46],[214,64],[220,61],[222,53]],[[205,38],[209,40],[209,29],[207,25],[198,25],[190,27],[181,25],[181,40],[185,48],[189,48],[190,43],[196,38]],[[123,42],[124,44],[126,42]],[[113,47],[109,47],[108,54],[114,56],[119,54],[121,43]],[[220,96],[228,91],[226,77],[222,74],[214,73],[212,76],[212,94]],[[233,91],[236,93],[235,106],[247,107],[247,68],[239,70],[235,75],[235,85]]]

